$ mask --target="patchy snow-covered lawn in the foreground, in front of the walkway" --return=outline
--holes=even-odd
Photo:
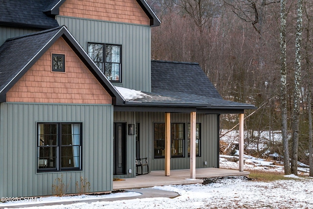
[[[292,177],[292,176],[291,176]],[[118,200],[45,206],[41,209],[312,209],[313,179],[297,177],[275,182],[252,181],[245,177],[214,179],[207,185],[155,186],[175,191],[178,197]],[[133,192],[131,192],[133,193]],[[123,193],[122,195],[126,195]],[[55,198],[54,198],[55,199]],[[67,197],[59,198],[65,201]],[[43,202],[50,202],[43,200]],[[43,203],[42,202],[42,203]],[[0,205],[2,208],[3,205]],[[38,209],[32,207],[28,209]]]

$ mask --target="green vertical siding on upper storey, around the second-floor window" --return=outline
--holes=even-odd
[[[151,28],[149,25],[115,23],[57,16],[78,43],[88,52],[88,43],[122,46],[122,83],[113,83],[151,92]],[[80,30],[84,28],[83,32]]]

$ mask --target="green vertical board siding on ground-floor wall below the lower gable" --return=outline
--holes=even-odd
[[[111,105],[0,104],[0,196],[51,195],[63,175],[66,193],[77,193],[80,177],[90,192],[112,190]],[[82,122],[83,170],[37,173],[37,122]]]

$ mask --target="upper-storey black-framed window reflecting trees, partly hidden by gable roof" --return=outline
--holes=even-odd
[[[113,82],[121,82],[120,45],[88,43],[88,54],[105,76]]]

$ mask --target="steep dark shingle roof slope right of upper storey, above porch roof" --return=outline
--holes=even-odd
[[[197,63],[151,61],[151,89],[222,99]]]

